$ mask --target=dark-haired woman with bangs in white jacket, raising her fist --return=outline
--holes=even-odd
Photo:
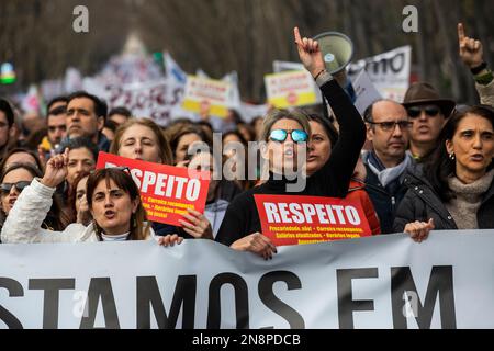
[[[2,228],[3,242],[85,242],[149,240],[154,231],[131,174],[100,169],[89,176],[87,200],[93,217],[89,226],[71,224],[64,231],[42,228],[56,186],[67,176],[68,149],[52,158],[42,179],[34,179],[19,196]],[[179,241],[175,238],[175,241]],[[167,245],[162,238],[160,245]]]

